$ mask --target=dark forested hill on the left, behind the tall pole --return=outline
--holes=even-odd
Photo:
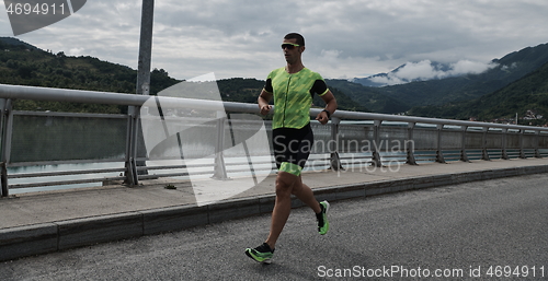
[[[102,61],[89,56],[70,57],[62,51],[52,54],[16,38],[0,37],[0,83],[45,87],[76,89],[114,93],[135,93],[137,70],[126,66]],[[155,69],[150,75],[150,93],[182,82],[169,77],[163,69]],[[217,82],[224,101],[256,103],[264,81],[255,79],[228,79]],[[365,106],[347,97],[342,91],[332,89],[339,108],[345,110],[368,110]],[[323,106],[317,97],[315,105]],[[85,105],[72,103],[50,103],[16,101],[19,110],[52,112],[101,112],[125,113],[125,106]]]

